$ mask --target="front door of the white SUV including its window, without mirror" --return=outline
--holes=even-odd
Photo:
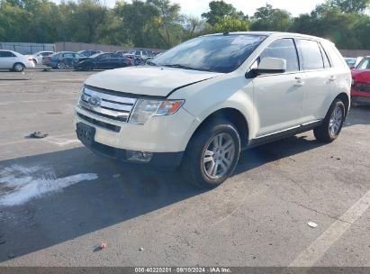
[[[300,71],[298,52],[292,38],[273,41],[258,60],[266,57],[285,59],[287,70],[264,74],[253,79],[257,138],[275,132],[294,130],[302,122],[304,74]]]

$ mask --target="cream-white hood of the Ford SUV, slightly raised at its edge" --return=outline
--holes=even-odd
[[[85,84],[143,96],[167,96],[175,88],[220,75],[222,73],[142,66],[106,70],[87,78]]]

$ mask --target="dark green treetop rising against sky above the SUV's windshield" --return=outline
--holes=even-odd
[[[234,17],[239,20],[248,20],[248,16],[244,15],[242,12],[238,12],[237,9],[231,5],[221,1],[212,1],[209,4],[210,11],[208,13],[203,13],[202,17],[207,20],[207,23],[215,25],[219,23],[225,17]]]

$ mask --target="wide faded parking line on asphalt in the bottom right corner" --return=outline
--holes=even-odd
[[[365,213],[370,205],[370,190],[366,192],[344,215],[338,218],[291,263],[291,267],[312,267],[322,258],[330,246]]]

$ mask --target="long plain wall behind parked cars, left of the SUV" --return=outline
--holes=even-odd
[[[103,44],[88,44],[83,42],[59,41],[55,43],[57,51],[78,51],[78,50],[102,50],[106,52],[114,52],[117,50],[152,50],[162,52],[160,49],[145,49],[145,48],[131,48]]]

